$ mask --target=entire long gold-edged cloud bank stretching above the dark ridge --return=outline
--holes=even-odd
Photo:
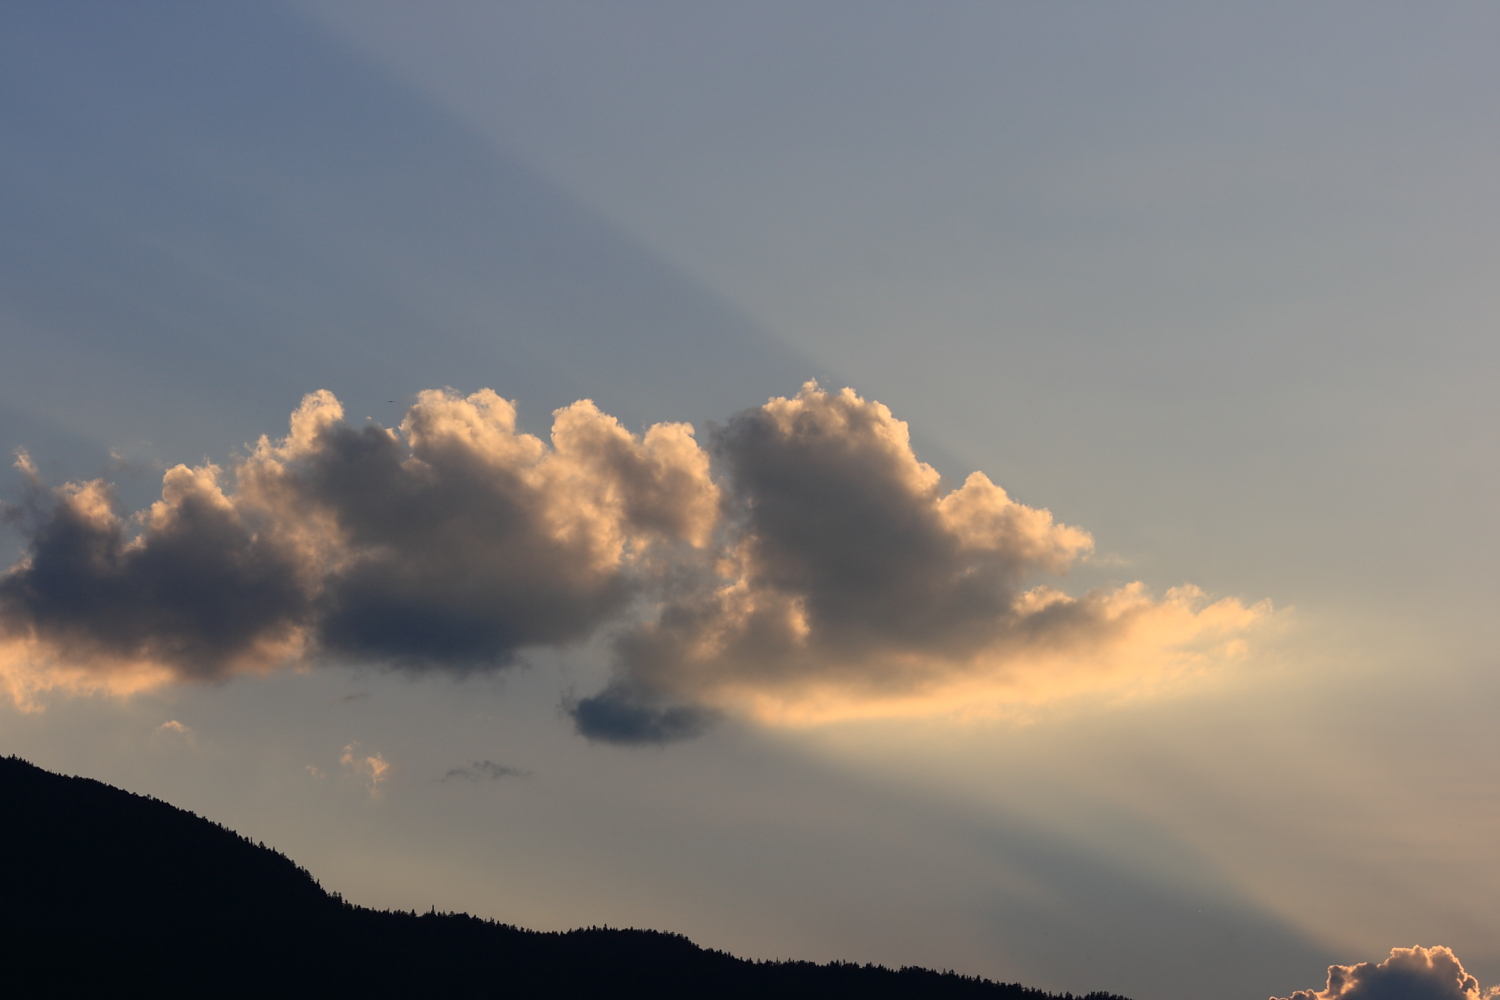
[[[590,739],[668,742],[724,715],[812,723],[998,712],[1152,690],[1245,654],[1268,604],[1143,585],[1074,597],[1094,540],[982,472],[957,489],[908,427],[808,382],[712,429],[632,433],[582,400],[549,439],[490,390],[352,427],[327,391],[222,469],[117,510],[18,462],[26,555],[0,577],[0,684],[128,693],[292,663],[504,667],[614,627]]]

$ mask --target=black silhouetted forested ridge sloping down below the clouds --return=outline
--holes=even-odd
[[[194,813],[20,757],[0,757],[0,858],[6,996],[1071,996],[926,969],[747,961],[660,931],[370,910]]]

